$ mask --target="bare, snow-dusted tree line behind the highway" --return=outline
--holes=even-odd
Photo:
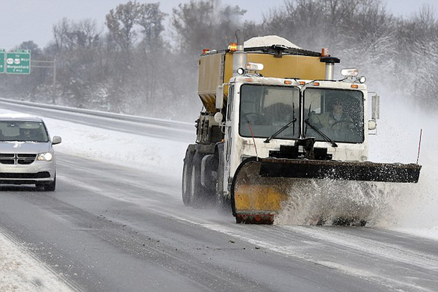
[[[407,18],[392,15],[381,0],[285,0],[262,19],[220,0],[181,3],[170,15],[159,3],[128,1],[96,20],[62,19],[53,40],[40,49],[25,41],[32,60],[55,60],[53,70],[0,75],[3,97],[192,121],[198,57],[235,41],[276,34],[319,51],[328,47],[342,67],[357,66],[370,87],[383,86],[418,108],[438,107],[438,23],[424,5]]]

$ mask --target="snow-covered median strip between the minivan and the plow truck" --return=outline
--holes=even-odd
[[[44,123],[51,136],[62,137],[62,143],[54,146],[55,151],[181,177],[188,143],[48,118],[44,118]]]

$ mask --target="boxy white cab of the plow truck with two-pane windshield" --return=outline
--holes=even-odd
[[[249,157],[305,156],[304,147],[283,150],[305,138],[315,139],[313,151],[320,160],[368,160],[365,84],[242,75],[233,77],[229,86],[223,123],[229,178]]]

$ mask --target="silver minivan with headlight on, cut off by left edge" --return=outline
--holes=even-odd
[[[0,184],[35,184],[55,191],[56,160],[52,145],[60,136],[49,136],[39,117],[0,114]]]

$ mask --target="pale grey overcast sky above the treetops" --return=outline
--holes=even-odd
[[[385,1],[385,0],[383,0]],[[437,0],[386,0],[393,14],[409,16],[424,3],[438,9]],[[52,40],[52,27],[63,17],[72,20],[95,19],[103,26],[105,14],[127,0],[1,0],[0,49],[12,49],[26,40],[45,47]],[[140,3],[160,3],[162,11],[171,14],[172,8],[189,0],[138,0]],[[263,14],[283,4],[283,0],[222,0],[224,4],[239,5],[247,10],[245,19],[257,22]]]

